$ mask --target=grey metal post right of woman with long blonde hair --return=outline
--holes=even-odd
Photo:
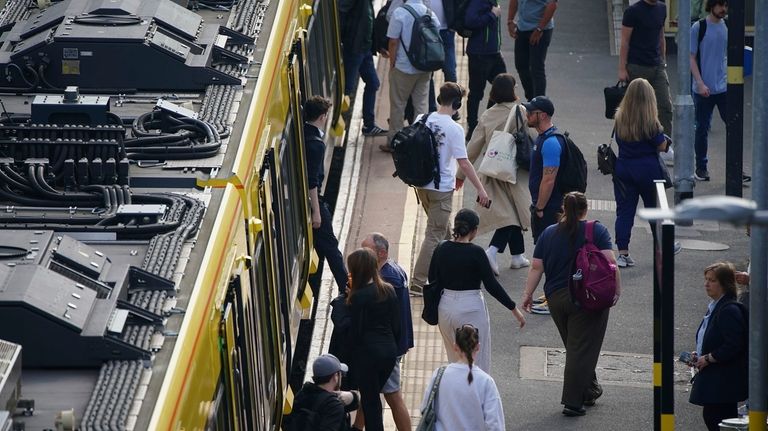
[[[693,197],[693,99],[691,98],[691,3],[677,2],[677,96],[675,97],[675,202]],[[666,130],[666,133],[670,133]]]

